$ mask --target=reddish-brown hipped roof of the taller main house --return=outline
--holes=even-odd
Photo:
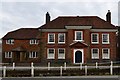
[[[92,26],[93,29],[116,29],[97,16],[60,16],[39,27],[40,29],[65,29],[65,26]]]

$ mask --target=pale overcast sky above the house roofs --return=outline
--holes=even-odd
[[[112,23],[118,25],[119,0],[1,0],[0,38],[19,28],[37,28],[45,23],[46,12],[51,20],[58,16],[99,16],[106,19],[108,10]],[[120,9],[120,8],[119,8]]]

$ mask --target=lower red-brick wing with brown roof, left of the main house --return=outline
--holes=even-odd
[[[21,28],[8,32],[2,39],[3,62],[38,62],[39,31],[34,28]]]

